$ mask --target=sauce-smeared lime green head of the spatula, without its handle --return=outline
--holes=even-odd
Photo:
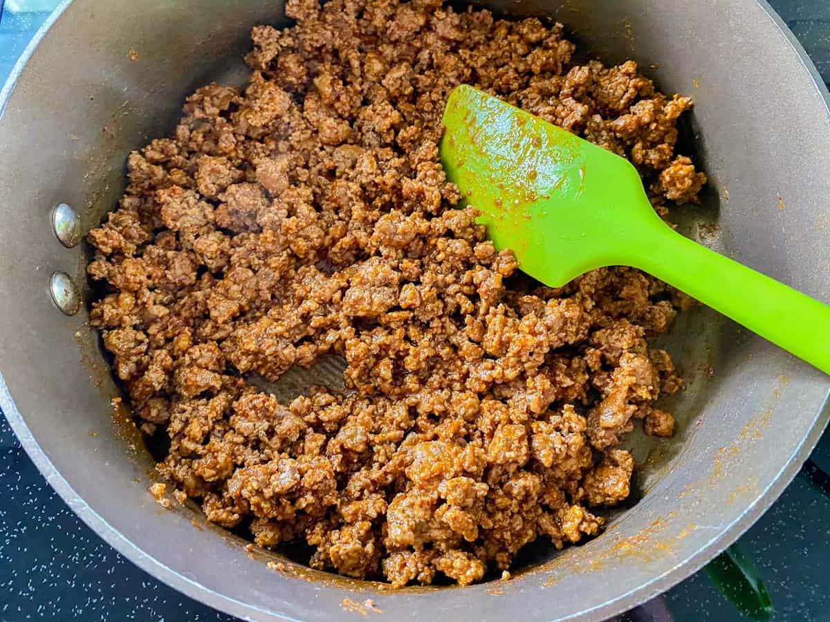
[[[442,164],[462,204],[544,284],[637,265],[641,232],[665,226],[626,159],[481,90],[453,90],[443,123]]]

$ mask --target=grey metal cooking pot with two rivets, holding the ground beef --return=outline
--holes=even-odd
[[[700,208],[675,211],[681,230],[830,302],[828,93],[765,2],[489,6],[554,17],[593,55],[633,58],[663,91],[693,96],[685,147],[710,183]],[[703,307],[664,338],[687,388],[667,404],[673,439],[630,440],[632,501],[583,546],[529,547],[510,581],[389,590],[247,550],[197,508],[159,506],[147,493],[153,459],[85,305],[66,315],[51,300],[50,284],[65,310],[73,287],[89,299],[88,250],[61,244],[53,208],[66,203],[89,231],[123,192],[129,150],[172,131],[188,93],[242,84],[259,23],[285,24],[283,2],[64,2],[0,95],[0,406],[90,527],[150,574],[247,619],[600,620],[689,576],[769,508],[828,420],[830,381]]]

